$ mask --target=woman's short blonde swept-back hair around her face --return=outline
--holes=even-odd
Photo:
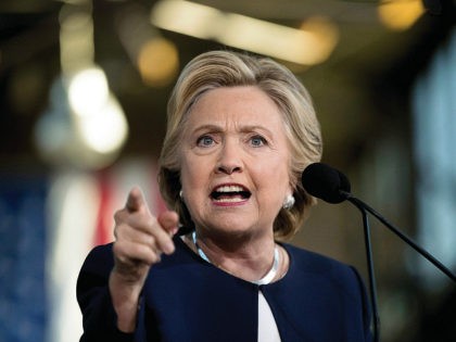
[[[194,224],[180,200],[180,161],[178,149],[188,113],[198,99],[211,89],[255,86],[278,106],[283,116],[290,147],[290,182],[295,203],[281,208],[274,221],[275,238],[291,238],[302,226],[314,199],[301,185],[301,174],[311,163],[321,159],[321,131],[311,96],[284,66],[267,59],[232,51],[203,53],[181,72],[167,107],[167,130],[160,156],[159,183],[167,205],[175,210],[188,229]]]

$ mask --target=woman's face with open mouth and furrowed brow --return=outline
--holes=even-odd
[[[181,145],[183,200],[200,229],[273,235],[290,153],[281,114],[256,87],[218,88],[189,113]]]

